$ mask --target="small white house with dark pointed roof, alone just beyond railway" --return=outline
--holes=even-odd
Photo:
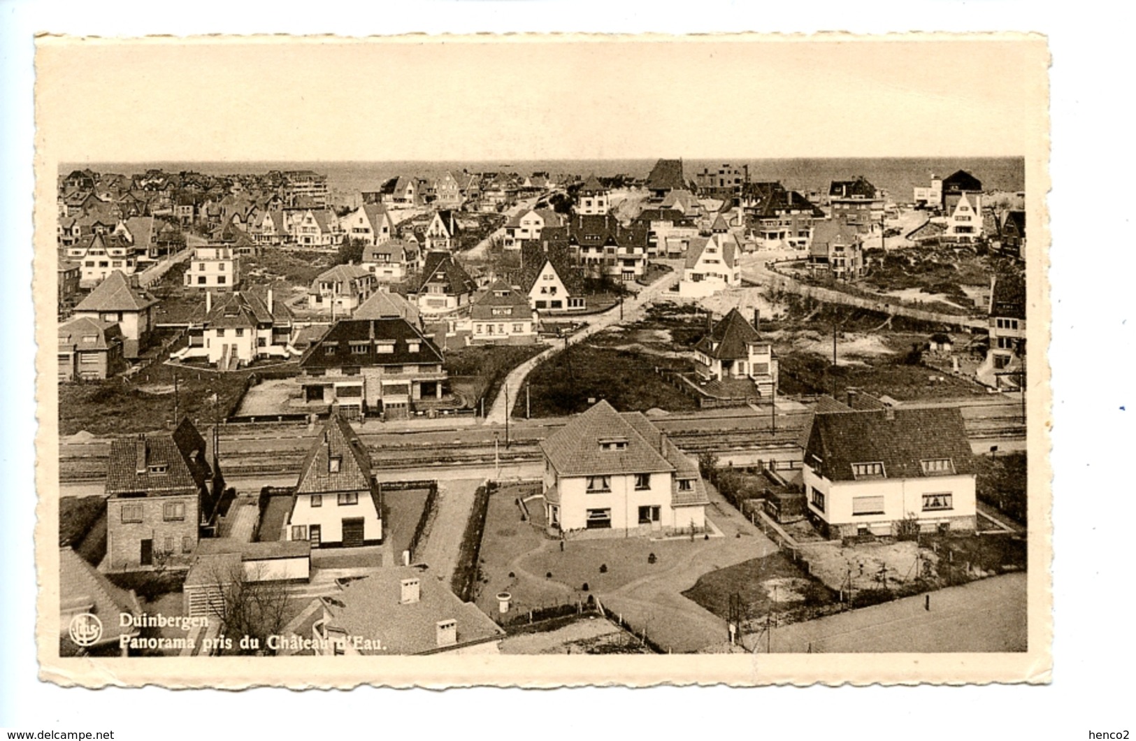
[[[705,381],[750,378],[761,397],[777,393],[779,364],[772,344],[736,308],[695,343],[694,369]]]

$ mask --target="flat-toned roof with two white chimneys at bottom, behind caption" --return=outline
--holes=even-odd
[[[382,648],[364,650],[367,655],[433,653],[504,638],[504,631],[475,603],[462,602],[431,573],[414,566],[373,571],[323,600],[316,616],[326,611],[328,627],[341,628],[349,636],[376,640]],[[418,601],[401,601],[404,578],[418,580]],[[457,643],[438,647],[437,623],[449,619],[457,623]],[[289,627],[311,635],[310,624]]]

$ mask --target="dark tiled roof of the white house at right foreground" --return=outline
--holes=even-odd
[[[818,414],[804,461],[830,481],[854,481],[853,464],[882,463],[886,478],[921,478],[936,475],[924,472],[924,460],[943,458],[957,474],[975,471],[954,407]]]

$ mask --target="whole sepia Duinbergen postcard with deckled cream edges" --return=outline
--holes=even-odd
[[[1050,680],[1044,38],[36,43],[44,681]]]

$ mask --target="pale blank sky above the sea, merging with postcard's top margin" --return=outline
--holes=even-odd
[[[37,124],[62,161],[1020,156],[1046,100],[1037,40],[247,39],[44,38]]]

